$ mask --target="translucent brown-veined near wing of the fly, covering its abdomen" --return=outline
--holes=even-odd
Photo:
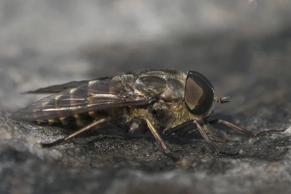
[[[48,120],[76,113],[146,105],[152,102],[152,97],[124,92],[123,88],[122,83],[115,80],[90,81],[34,102],[27,108],[13,113],[9,118],[23,121]]]

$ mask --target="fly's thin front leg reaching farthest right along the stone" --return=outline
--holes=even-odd
[[[282,133],[282,132],[286,131],[286,129],[282,129],[282,130],[265,130],[265,131],[259,132],[258,134],[255,135],[251,131],[243,129],[241,127],[238,127],[238,126],[236,126],[236,125],[234,125],[234,124],[232,124],[232,123],[230,123],[228,121],[225,121],[225,120],[217,119],[217,120],[210,121],[209,123],[211,125],[222,123],[222,124],[226,125],[227,127],[230,127],[231,129],[235,129],[237,131],[240,131],[240,132],[242,132],[242,133],[244,133],[244,134],[246,134],[246,135],[248,135],[248,136],[250,136],[252,138],[257,138],[259,136],[266,135],[268,133]]]

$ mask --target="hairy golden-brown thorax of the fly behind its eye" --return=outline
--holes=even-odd
[[[157,128],[173,128],[185,121],[207,117],[212,111],[211,108],[203,115],[194,115],[188,111],[184,101],[186,74],[181,71],[141,70],[118,75],[113,80],[120,81],[128,93],[131,91],[141,96],[157,98],[157,102],[146,107],[128,107],[131,119],[144,119],[147,116]]]

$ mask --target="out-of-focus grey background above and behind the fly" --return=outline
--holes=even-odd
[[[253,113],[286,97],[290,24],[290,0],[0,0],[0,111],[42,97],[28,90],[155,67],[199,71],[238,105],[218,110]]]

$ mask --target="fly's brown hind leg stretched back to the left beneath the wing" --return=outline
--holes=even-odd
[[[91,124],[89,124],[89,125],[81,128],[81,129],[77,130],[76,132],[72,133],[71,135],[69,135],[69,136],[67,136],[67,137],[65,137],[63,139],[59,139],[59,140],[57,140],[55,142],[52,142],[52,143],[49,143],[49,144],[40,144],[40,146],[44,148],[44,147],[51,147],[51,146],[56,146],[56,145],[63,144],[64,142],[71,140],[72,138],[80,135],[81,133],[83,133],[85,131],[90,130],[92,127],[94,127],[94,126],[96,126],[96,125],[98,125],[100,123],[104,123],[107,120],[108,119],[106,119],[106,118],[102,118],[102,119],[96,120],[96,121],[92,122]]]

